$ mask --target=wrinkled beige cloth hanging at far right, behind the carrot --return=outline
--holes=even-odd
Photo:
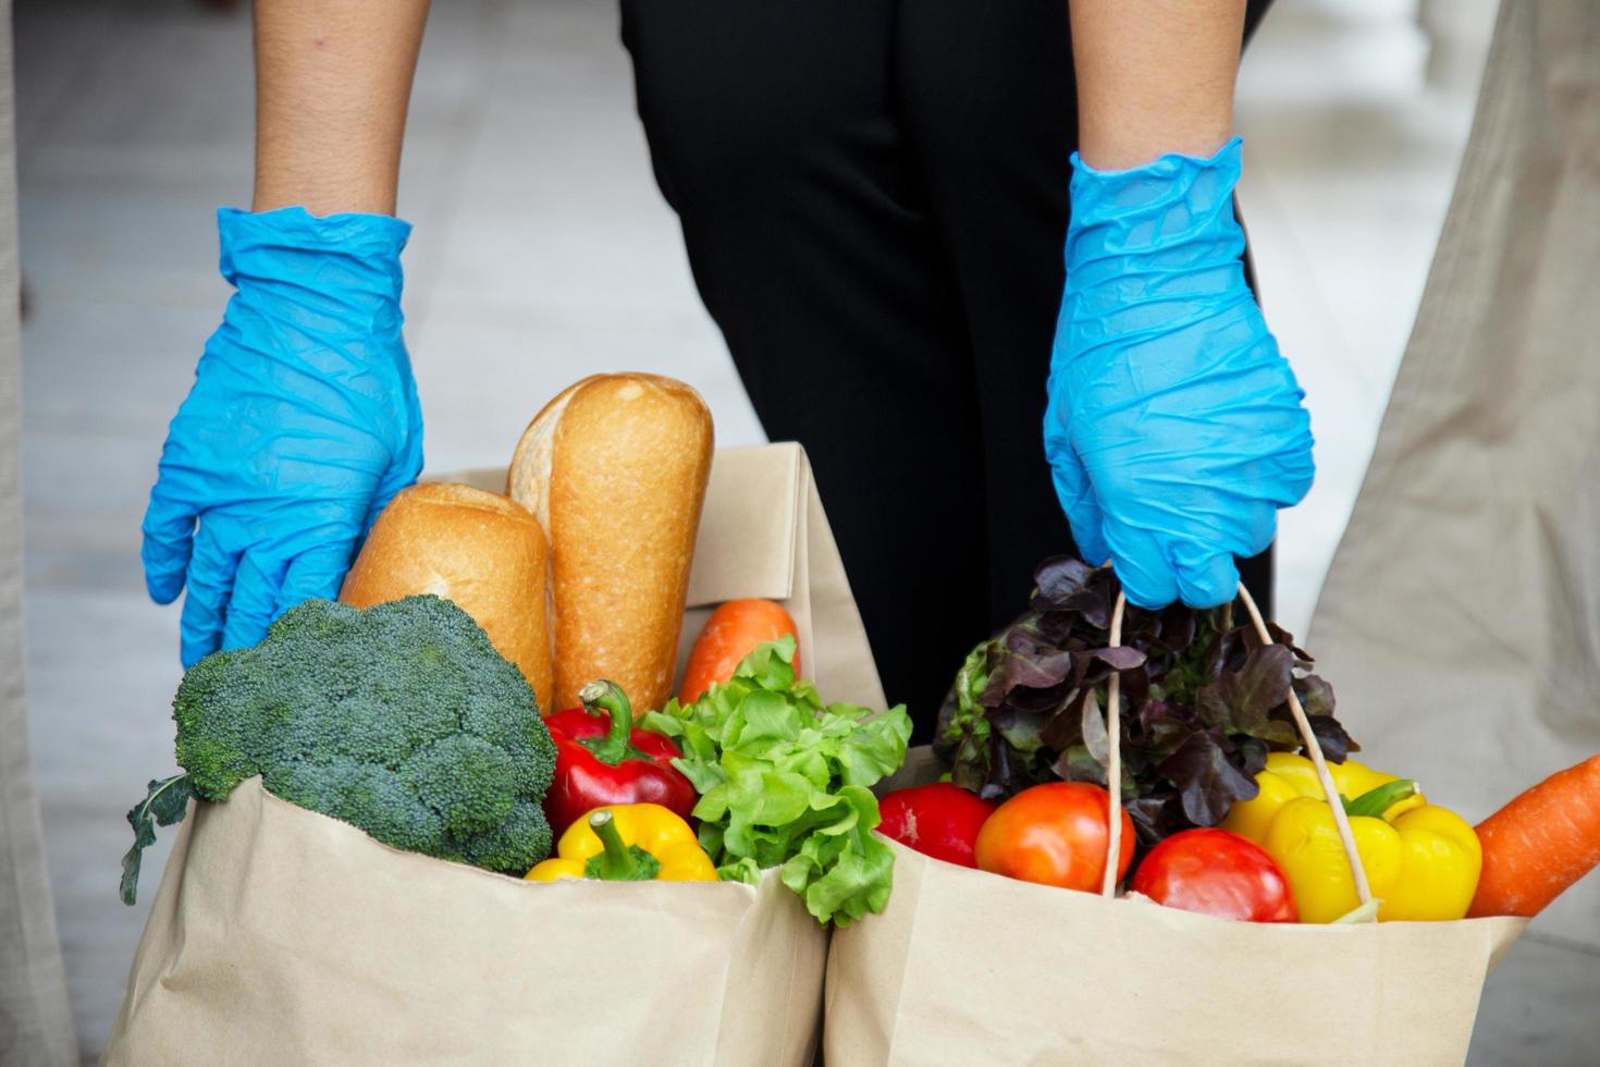
[[[1502,3],[1450,214],[1310,643],[1470,821],[1600,752],[1600,3]],[[1381,605],[1374,609],[1373,605]],[[1600,877],[1534,929],[1600,952]],[[1600,1053],[1597,1053],[1600,1059]]]

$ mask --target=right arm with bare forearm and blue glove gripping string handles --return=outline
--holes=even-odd
[[[1234,598],[1310,490],[1304,394],[1245,280],[1245,0],[1072,0],[1078,139],[1045,456],[1128,600]]]

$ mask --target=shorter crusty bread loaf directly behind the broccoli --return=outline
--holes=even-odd
[[[549,555],[544,530],[520,504],[467,485],[413,485],[373,523],[339,600],[357,608],[416,593],[454,600],[549,713]]]

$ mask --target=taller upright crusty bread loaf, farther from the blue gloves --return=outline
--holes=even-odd
[[[550,534],[557,709],[595,678],[670,696],[710,453],[706,402],[656,374],[586,378],[522,435],[506,493]]]

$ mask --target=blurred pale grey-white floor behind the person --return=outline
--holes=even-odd
[[[1294,632],[1416,314],[1494,10],[1278,0],[1245,58],[1240,202],[1318,438],[1317,486],[1278,542],[1278,616]],[[605,0],[435,5],[400,186],[434,470],[502,464],[547,397],[603,370],[683,378],[718,443],[762,440],[656,192],[616,21]],[[122,813],[171,768],[179,677],[178,611],[144,595],[139,518],[227,298],[213,211],[250,200],[248,10],[18,0],[16,58],[32,741],[93,1059],[165,859],[163,840],[141,907],[123,909]],[[1490,982],[1472,1062],[1592,1062],[1597,998],[1600,958],[1534,931]]]

